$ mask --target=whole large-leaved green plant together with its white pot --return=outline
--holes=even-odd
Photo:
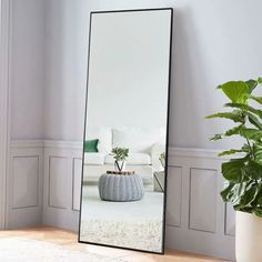
[[[223,201],[231,202],[236,211],[235,252],[238,262],[262,261],[262,97],[253,94],[262,78],[249,81],[230,81],[218,87],[230,99],[219,112],[208,119],[222,118],[234,122],[224,133],[215,134],[211,141],[240,135],[243,145],[219,155],[238,153],[222,163],[225,179],[221,192]],[[252,103],[252,104],[251,104]],[[254,104],[254,105],[253,105]]]

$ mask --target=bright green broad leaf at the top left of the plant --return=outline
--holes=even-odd
[[[246,103],[246,94],[250,94],[249,85],[243,81],[230,81],[218,87],[233,103]]]

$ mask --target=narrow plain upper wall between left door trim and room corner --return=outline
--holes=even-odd
[[[11,139],[41,139],[44,135],[44,2],[10,2]]]

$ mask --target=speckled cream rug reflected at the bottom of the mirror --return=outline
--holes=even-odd
[[[161,252],[162,230],[160,219],[90,219],[81,221],[80,240]]]

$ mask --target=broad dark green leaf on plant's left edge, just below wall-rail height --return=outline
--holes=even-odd
[[[244,181],[243,168],[246,159],[232,159],[229,162],[222,163],[223,177],[232,182],[240,183]]]

